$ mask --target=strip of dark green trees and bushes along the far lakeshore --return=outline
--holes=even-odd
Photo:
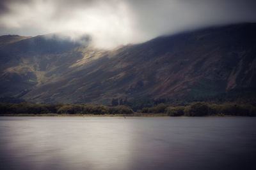
[[[256,115],[256,107],[250,104],[195,102],[187,106],[157,104],[135,113],[127,106],[93,106],[91,104],[31,104],[0,103],[0,116],[134,116],[134,117],[204,117]]]

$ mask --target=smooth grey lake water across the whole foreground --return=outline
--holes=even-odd
[[[256,169],[254,117],[0,117],[0,169]]]

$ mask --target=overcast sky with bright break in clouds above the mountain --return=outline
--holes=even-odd
[[[256,22],[255,0],[0,0],[0,35],[60,33],[114,48],[215,25]]]

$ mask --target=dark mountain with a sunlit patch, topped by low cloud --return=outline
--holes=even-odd
[[[255,30],[253,23],[211,27],[113,50],[94,48],[89,36],[86,45],[58,36],[1,36],[0,96],[93,104],[223,94],[234,99],[244,91],[253,97]]]

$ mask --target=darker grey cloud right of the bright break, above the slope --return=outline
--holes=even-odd
[[[154,36],[211,25],[256,21],[252,0],[129,1],[141,30]]]

